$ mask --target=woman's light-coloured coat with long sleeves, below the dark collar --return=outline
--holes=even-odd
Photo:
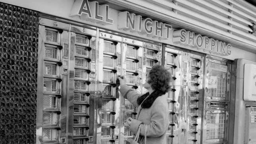
[[[137,119],[131,121],[130,130],[136,134],[142,123],[140,135],[144,136],[145,125],[148,125],[146,144],[166,144],[169,125],[167,96],[158,96],[150,108],[141,108],[141,105],[137,104],[137,98],[141,94],[127,85],[120,86],[119,91],[137,108]],[[144,140],[140,144],[144,144]]]

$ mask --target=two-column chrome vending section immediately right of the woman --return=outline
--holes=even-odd
[[[169,45],[164,51],[163,63],[172,75],[167,144],[200,144],[204,55]]]

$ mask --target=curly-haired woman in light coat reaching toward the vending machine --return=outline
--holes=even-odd
[[[155,65],[149,72],[146,83],[143,84],[148,92],[144,95],[138,94],[134,89],[127,86],[126,79],[118,77],[120,81],[119,91],[135,107],[137,107],[137,119],[129,117],[126,121],[130,130],[137,134],[139,126],[140,140],[144,136],[147,125],[146,144],[166,144],[166,131],[169,125],[169,114],[167,96],[170,86],[171,75],[162,65]],[[144,144],[144,138],[139,142]]]

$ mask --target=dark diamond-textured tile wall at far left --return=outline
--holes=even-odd
[[[38,12],[0,2],[0,144],[35,144]]]

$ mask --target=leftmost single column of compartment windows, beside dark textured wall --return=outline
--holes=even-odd
[[[68,39],[68,31],[39,26],[37,144],[66,138],[67,75],[62,75],[61,47]]]

